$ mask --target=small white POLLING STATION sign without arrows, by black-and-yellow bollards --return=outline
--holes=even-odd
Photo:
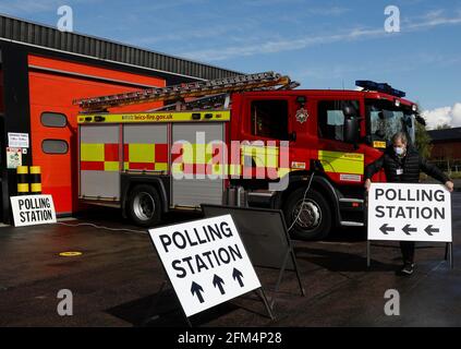
[[[10,198],[15,227],[56,222],[51,195],[12,196]]]

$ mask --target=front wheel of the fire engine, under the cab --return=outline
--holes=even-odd
[[[284,217],[288,227],[292,227],[292,237],[322,240],[331,230],[331,212],[326,200],[315,190],[311,189],[304,200],[305,190],[300,188],[291,193],[283,206]]]

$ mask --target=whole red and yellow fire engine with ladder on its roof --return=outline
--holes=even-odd
[[[403,92],[356,84],[363,89],[294,89],[267,72],[76,100],[78,197],[141,226],[203,203],[282,209],[307,240],[363,226],[365,166],[396,132],[413,141],[421,118]],[[159,100],[157,110],[110,113]]]

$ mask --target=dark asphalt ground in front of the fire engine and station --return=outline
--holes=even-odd
[[[461,193],[453,197],[454,268],[445,244],[420,243],[416,272],[396,274],[398,243],[374,243],[366,267],[364,229],[338,229],[323,242],[295,241],[306,291],[301,297],[294,273],[287,272],[279,292],[270,289],[278,270],[256,268],[276,320],[254,293],[192,317],[194,326],[460,326]],[[149,237],[114,209],[97,209],[65,225],[0,228],[0,326],[184,326]],[[171,214],[166,224],[191,220]],[[96,224],[116,231],[92,226]],[[63,257],[59,253],[78,251]],[[73,293],[73,315],[59,316],[58,291]],[[385,292],[400,293],[400,315],[387,316]]]

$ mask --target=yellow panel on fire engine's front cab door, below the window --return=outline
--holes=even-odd
[[[326,172],[364,173],[365,156],[363,154],[318,151],[318,159]]]

